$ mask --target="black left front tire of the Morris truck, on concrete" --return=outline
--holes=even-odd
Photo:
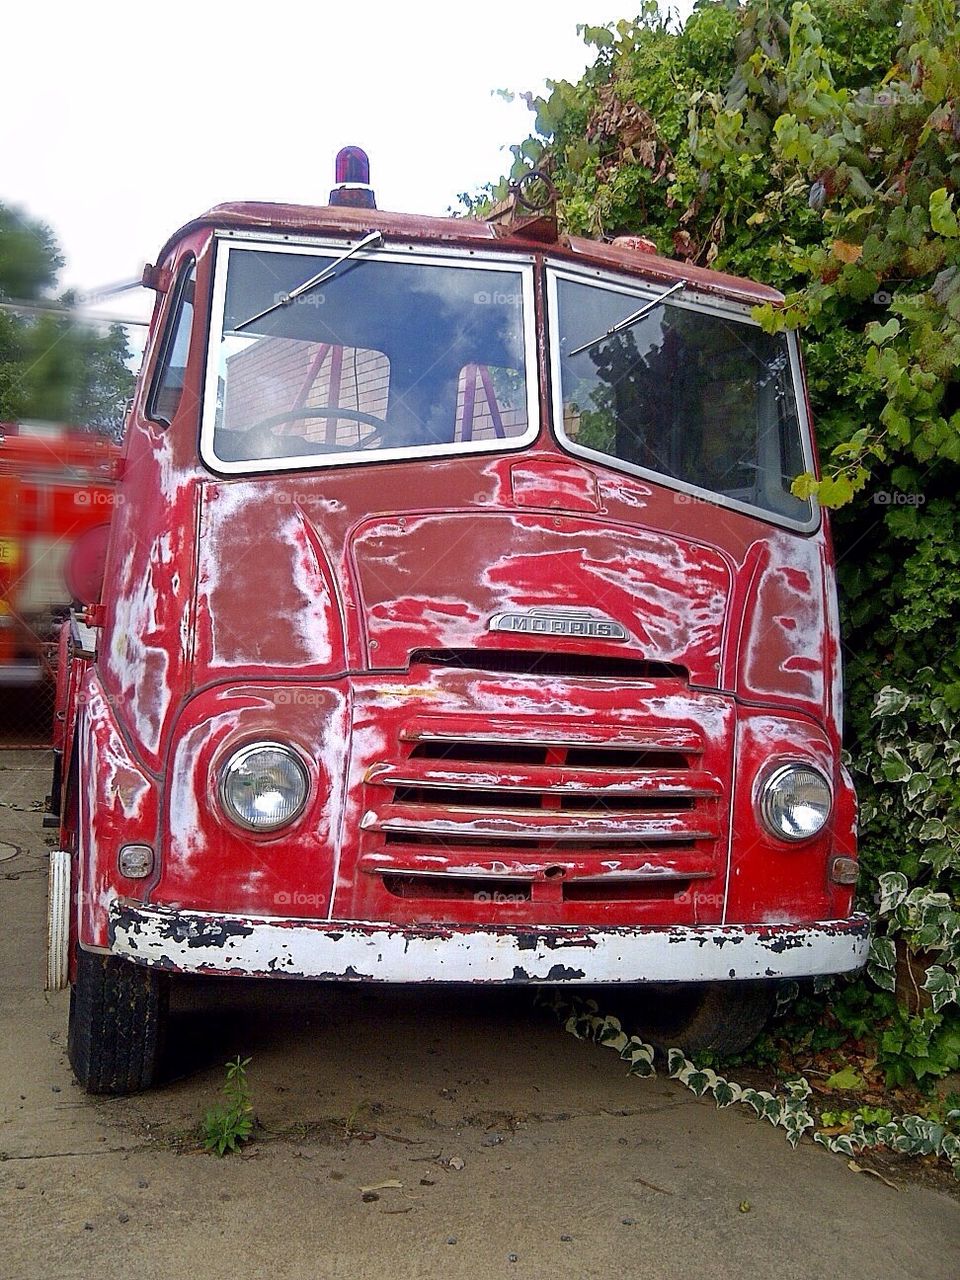
[[[165,973],[78,951],[67,1055],[87,1093],[136,1093],[154,1084],[168,1005]]]

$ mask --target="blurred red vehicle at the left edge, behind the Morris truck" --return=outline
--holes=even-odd
[[[82,564],[105,547],[116,457],[90,431],[0,422],[0,687],[52,677]]]

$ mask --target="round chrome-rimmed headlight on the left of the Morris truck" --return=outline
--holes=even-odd
[[[300,756],[279,742],[252,742],[220,771],[224,813],[248,831],[276,831],[303,812],[310,778]]]

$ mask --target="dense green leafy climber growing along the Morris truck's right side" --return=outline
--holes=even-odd
[[[595,59],[582,79],[527,95],[535,128],[509,177],[548,173],[571,233],[640,233],[785,292],[782,310],[755,315],[803,328],[826,466],[795,492],[840,508],[864,892],[901,872],[955,905],[960,17],[948,0],[700,0],[677,29],[649,0],[584,36]],[[882,937],[913,945],[901,923]],[[945,934],[932,950],[952,964],[951,947]],[[891,1044],[902,1032],[934,1059],[938,1038],[952,1046],[927,1074],[960,1062],[945,989],[922,1015],[897,1014],[892,995],[887,1006]]]

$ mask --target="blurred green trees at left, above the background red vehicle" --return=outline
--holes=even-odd
[[[52,232],[0,205],[0,301],[44,303],[63,266]],[[65,296],[61,305],[69,307]],[[44,419],[115,434],[133,389],[120,325],[0,310],[0,421]]]

